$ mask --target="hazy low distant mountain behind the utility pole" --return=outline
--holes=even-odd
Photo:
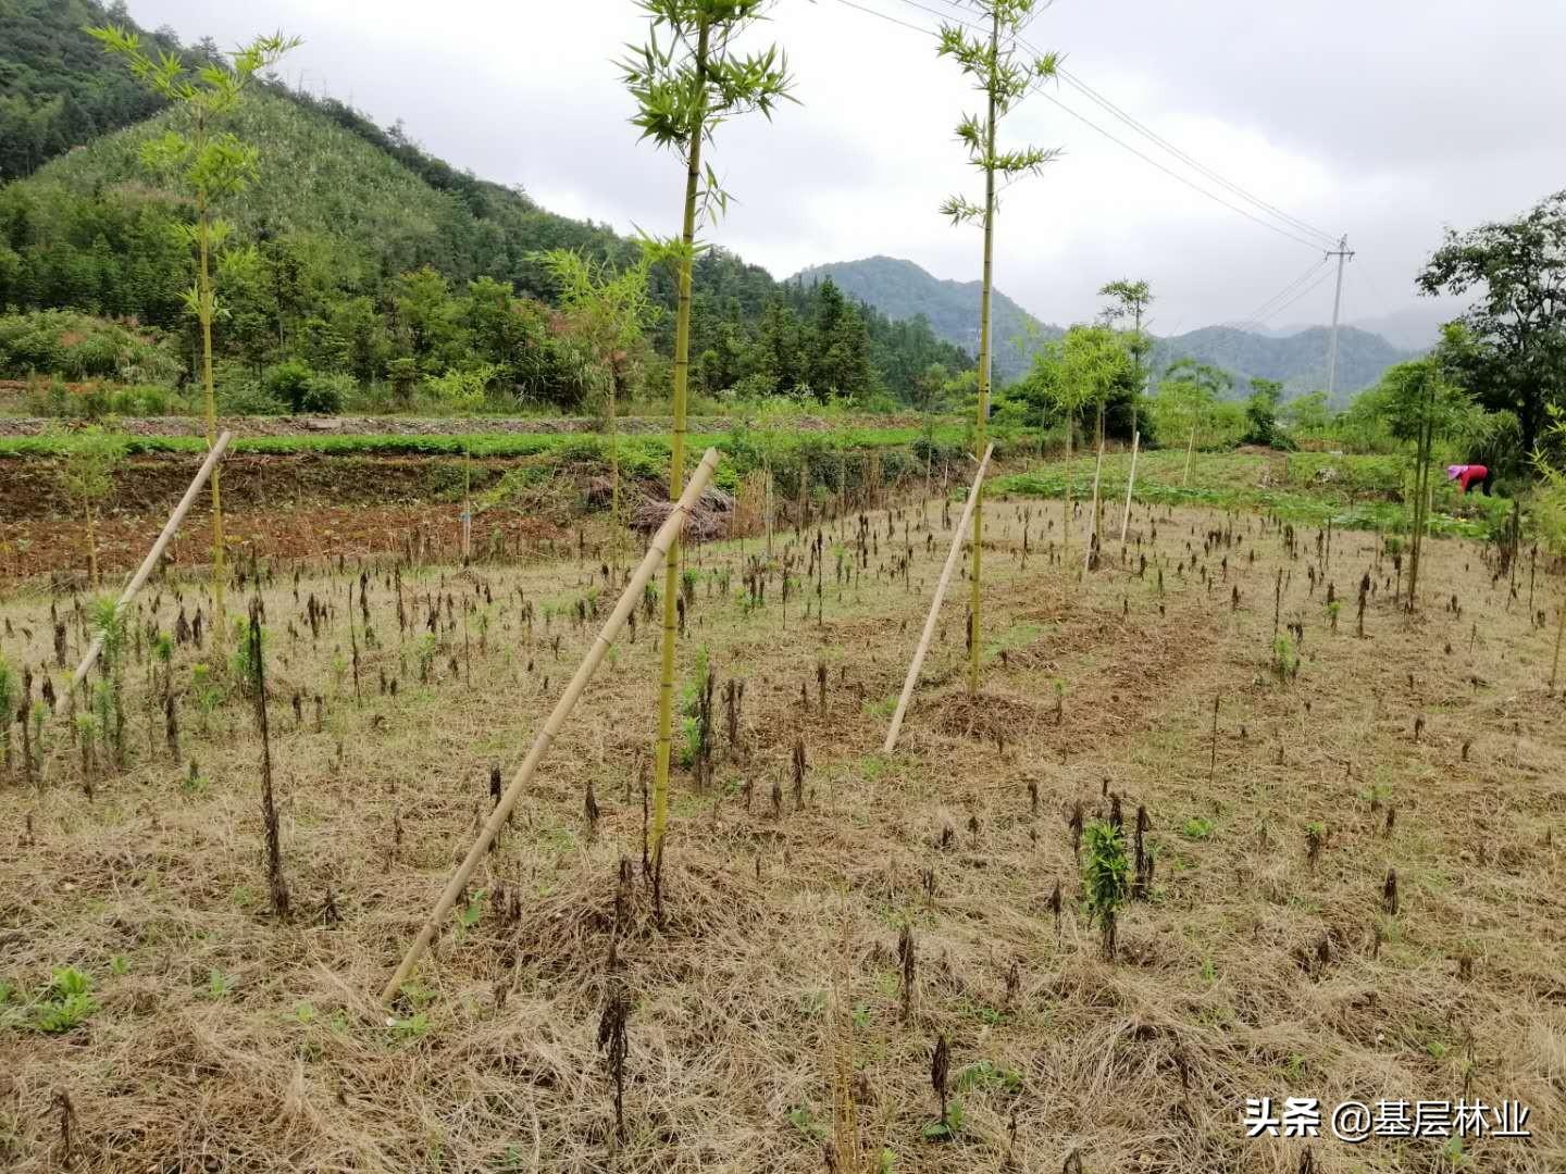
[[[1159,369],[1178,358],[1218,366],[1234,376],[1236,394],[1247,393],[1253,376],[1276,379],[1284,387],[1284,399],[1326,388],[1326,348],[1330,330],[1312,326],[1283,338],[1270,338],[1251,330],[1207,326],[1174,338],[1159,338],[1153,358]],[[1381,379],[1394,363],[1417,352],[1400,351],[1381,335],[1353,326],[1337,330],[1337,401],[1345,402],[1355,391]]]

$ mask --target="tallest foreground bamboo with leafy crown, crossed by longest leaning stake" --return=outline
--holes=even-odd
[[[697,258],[697,224],[709,222],[728,203],[728,193],[702,149],[723,122],[745,113],[770,119],[789,99],[788,64],[777,45],[741,55],[733,45],[760,20],[767,0],[640,0],[651,23],[647,45],[622,63],[636,100],[631,119],[644,139],[673,152],[686,169],[684,213],[678,238],[658,243],[678,271],[673,346],[673,441],[669,456],[669,498],[684,488],[686,391],[691,376],[691,271]],[[658,703],[658,754],[653,775],[653,875],[662,870],[664,826],[669,819],[669,751],[673,731],[673,676],[680,542],[664,565],[664,639]],[[661,892],[661,891],[659,891]]]

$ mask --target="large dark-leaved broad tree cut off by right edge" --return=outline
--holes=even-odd
[[[1416,279],[1423,294],[1477,294],[1463,382],[1485,409],[1516,413],[1532,452],[1566,396],[1566,191],[1513,221],[1447,230]]]

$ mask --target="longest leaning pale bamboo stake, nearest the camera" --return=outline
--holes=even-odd
[[[669,554],[669,548],[673,545],[675,537],[684,528],[686,518],[691,517],[691,510],[702,496],[702,490],[705,490],[706,484],[713,479],[713,470],[717,468],[717,449],[709,448],[706,456],[702,457],[702,463],[697,465],[695,471],[691,474],[684,492],[680,495],[680,501],[675,502],[675,507],[664,520],[664,524],[658,528],[658,534],[655,534],[651,543],[648,543],[647,554],[642,556],[640,565],[637,565],[636,573],[631,574],[631,579],[625,584],[625,590],[620,593],[620,601],[614,606],[609,618],[604,620],[598,637],[594,640],[592,648],[587,650],[587,656],[584,656],[583,662],[576,667],[576,675],[572,676],[570,684],[565,686],[565,692],[561,695],[561,700],[554,703],[554,711],[545,720],[539,736],[532,740],[532,748],[528,751],[528,756],[521,761],[521,765],[512,776],[511,786],[507,786],[506,794],[500,797],[500,801],[490,812],[489,820],[479,831],[479,837],[468,850],[467,858],[457,866],[457,870],[451,873],[451,880],[446,881],[446,888],[440,894],[440,900],[435,902],[435,908],[429,914],[429,920],[424,922],[418,936],[413,939],[413,944],[409,945],[407,953],[402,955],[402,963],[396,967],[396,974],[392,975],[392,980],[381,992],[381,1002],[390,1003],[392,999],[396,997],[396,992],[413,974],[413,967],[418,964],[418,960],[424,955],[424,950],[429,949],[431,941],[434,941],[435,935],[440,931],[440,925],[446,919],[446,914],[451,913],[451,906],[468,886],[468,881],[473,878],[473,872],[478,869],[485,853],[489,853],[490,844],[495,842],[500,830],[506,825],[512,808],[517,806],[517,800],[521,798],[521,789],[532,778],[532,772],[548,753],[554,736],[561,731],[561,726],[565,725],[565,718],[572,715],[572,711],[581,700],[583,690],[587,687],[592,675],[603,662],[614,637],[620,632],[620,628],[625,625],[631,610],[640,603],[642,589],[648,584],[648,581],[651,581],[664,557]]]

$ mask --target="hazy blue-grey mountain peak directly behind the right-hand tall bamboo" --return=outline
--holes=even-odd
[[[789,280],[810,285],[822,277],[832,277],[849,297],[875,307],[888,318],[910,319],[922,315],[936,338],[979,354],[979,282],[941,280],[913,261],[896,257],[816,265],[800,269]],[[1026,374],[1034,348],[1063,333],[1059,326],[1040,322],[999,290],[990,301],[990,313],[996,384],[1009,384]]]

